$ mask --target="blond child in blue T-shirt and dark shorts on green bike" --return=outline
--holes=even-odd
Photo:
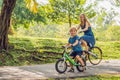
[[[82,47],[79,43],[77,29],[75,27],[72,27],[69,32],[70,32],[71,37],[69,38],[68,44],[66,44],[65,47],[72,47],[73,52],[70,54],[70,56],[72,58],[76,58],[81,63],[81,65],[84,67],[85,64],[82,58],[80,57],[82,55]],[[71,65],[71,69],[69,70],[69,72],[74,72],[73,65]]]

